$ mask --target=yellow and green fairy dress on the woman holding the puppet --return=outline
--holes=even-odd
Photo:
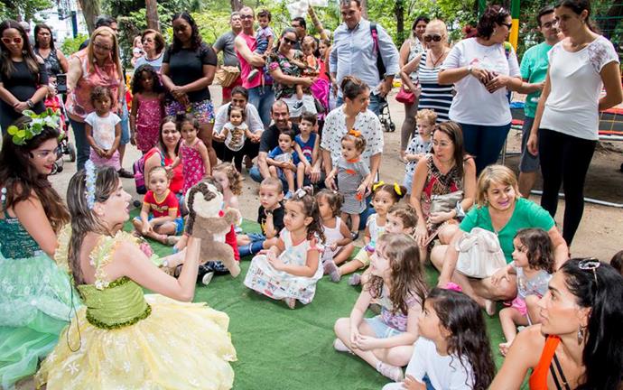
[[[109,280],[106,265],[124,241],[138,245],[126,232],[99,238],[89,256],[95,283],[78,286],[86,307],[43,361],[36,385],[48,390],[231,388],[229,362],[236,360],[236,350],[228,315],[204,302],[144,295],[126,276]],[[60,247],[66,251],[67,245]]]

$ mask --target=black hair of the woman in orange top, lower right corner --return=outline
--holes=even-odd
[[[623,276],[612,266],[581,269],[585,259],[568,260],[560,268],[565,284],[581,308],[590,309],[578,389],[617,390],[623,383]]]

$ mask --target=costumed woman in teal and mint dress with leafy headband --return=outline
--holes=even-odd
[[[47,115],[45,115],[47,117]],[[55,118],[55,119],[52,119]],[[49,118],[51,121],[56,116]],[[67,325],[70,278],[51,259],[70,214],[51,187],[59,131],[23,116],[0,151],[0,387],[37,370]]]

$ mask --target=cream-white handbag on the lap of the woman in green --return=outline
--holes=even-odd
[[[456,270],[468,277],[484,279],[507,265],[496,234],[483,228],[465,233],[455,248],[459,252]]]

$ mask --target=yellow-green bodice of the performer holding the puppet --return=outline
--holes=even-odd
[[[147,318],[152,312],[144,300],[143,289],[126,276],[101,290],[98,287],[94,284],[78,286],[87,306],[87,320],[93,326],[107,330],[123,328]]]

